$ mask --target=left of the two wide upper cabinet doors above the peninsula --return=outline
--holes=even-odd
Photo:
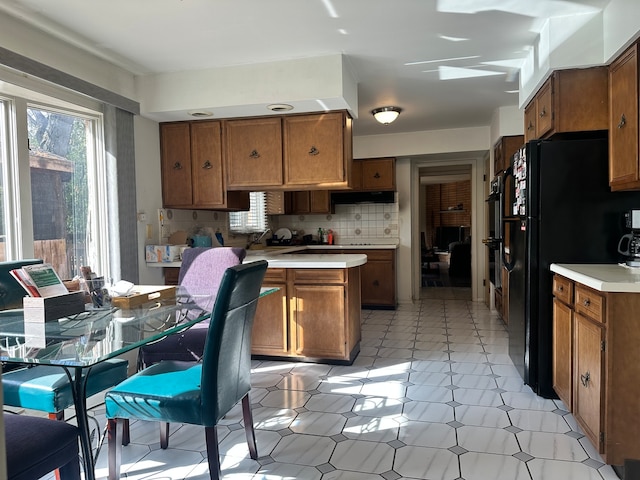
[[[282,121],[279,117],[224,123],[227,188],[282,186]]]

